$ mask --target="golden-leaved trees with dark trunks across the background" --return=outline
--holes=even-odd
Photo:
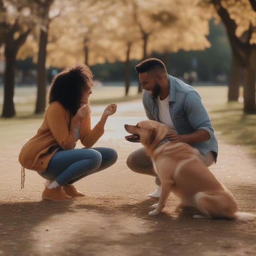
[[[101,77],[107,75],[106,66],[111,74],[115,65],[123,63],[118,67],[125,94],[133,78],[131,60],[163,57],[175,76],[191,70],[208,79],[227,72],[227,44],[211,35],[207,38],[212,17],[223,22],[231,46],[228,99],[238,99],[242,81],[244,111],[255,112],[255,0],[1,0],[0,58],[6,64],[2,116],[15,115],[15,64],[29,56],[37,63],[35,113],[45,109],[48,67],[62,69],[82,61]],[[209,41],[213,47],[207,49]]]

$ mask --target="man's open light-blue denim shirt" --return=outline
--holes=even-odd
[[[214,135],[212,122],[201,101],[198,92],[190,85],[169,75],[169,112],[178,134],[191,134],[204,129],[210,134],[207,141],[191,143],[204,155],[215,152],[215,163],[218,155],[218,141]],[[158,105],[149,93],[143,92],[143,106],[148,119],[158,121]],[[158,121],[159,122],[159,121]]]

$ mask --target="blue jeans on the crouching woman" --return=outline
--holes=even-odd
[[[44,172],[39,173],[47,180],[55,180],[59,185],[73,184],[77,180],[102,171],[117,160],[113,148],[77,148],[57,151]]]

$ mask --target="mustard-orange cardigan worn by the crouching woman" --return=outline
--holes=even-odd
[[[23,168],[44,172],[59,149],[73,149],[79,139],[85,147],[90,148],[103,133],[104,127],[99,124],[91,130],[90,115],[80,124],[61,103],[52,102],[37,134],[21,148],[19,162]]]

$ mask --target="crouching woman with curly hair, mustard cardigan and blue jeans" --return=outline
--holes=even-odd
[[[90,108],[93,74],[86,65],[76,65],[56,75],[49,93],[49,107],[37,134],[21,149],[24,168],[37,171],[46,181],[42,198],[69,201],[84,196],[72,184],[113,165],[117,153],[112,148],[91,148],[104,133],[108,116],[116,104],[108,105],[91,130]],[[81,140],[85,148],[74,149]],[[24,186],[24,181],[22,181]]]

